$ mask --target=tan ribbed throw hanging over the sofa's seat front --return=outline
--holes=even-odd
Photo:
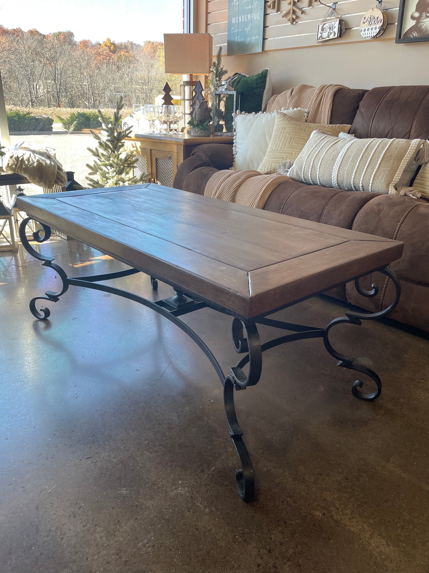
[[[287,175],[261,175],[259,171],[252,170],[221,170],[210,177],[205,185],[204,195],[263,209],[277,185],[290,180]]]

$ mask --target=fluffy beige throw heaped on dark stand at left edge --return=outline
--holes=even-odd
[[[10,148],[3,157],[3,169],[9,173],[17,173],[29,180],[30,183],[52,189],[67,183],[67,175],[61,163],[55,158],[55,150],[42,147],[39,150],[29,147]]]

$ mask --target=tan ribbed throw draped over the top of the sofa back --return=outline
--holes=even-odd
[[[308,109],[308,123],[329,124],[332,111],[332,100],[335,92],[339,89],[348,89],[344,85],[319,85],[313,88],[311,85],[297,85],[296,88],[273,96],[267,105],[267,111],[273,112],[276,109]]]

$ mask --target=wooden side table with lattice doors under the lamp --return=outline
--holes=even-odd
[[[232,143],[231,136],[210,135],[194,137],[188,134],[134,134],[125,140],[125,148],[140,155],[134,174],[147,173],[148,183],[173,187],[177,167],[187,159],[192,150],[203,143]]]

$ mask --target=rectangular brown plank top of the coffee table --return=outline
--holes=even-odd
[[[403,250],[154,183],[17,200],[37,221],[244,319],[388,265]]]

